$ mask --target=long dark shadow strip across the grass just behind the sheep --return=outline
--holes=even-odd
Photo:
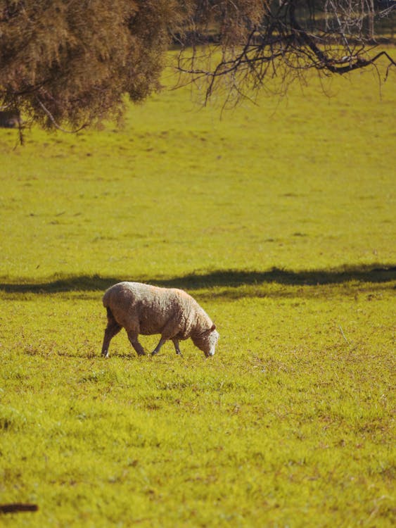
[[[0,290],[7,293],[51,294],[62,291],[104,291],[124,277],[101,277],[82,275],[59,277],[48,282],[0,282]],[[345,282],[383,283],[396,280],[395,265],[343,266],[332,270],[311,270],[293,272],[272,268],[268,271],[215,270],[205,274],[184,275],[164,279],[130,277],[128,280],[146,282],[163,287],[182,289],[203,289],[211,287],[239,287],[251,284],[286,284],[288,286],[321,286]]]

